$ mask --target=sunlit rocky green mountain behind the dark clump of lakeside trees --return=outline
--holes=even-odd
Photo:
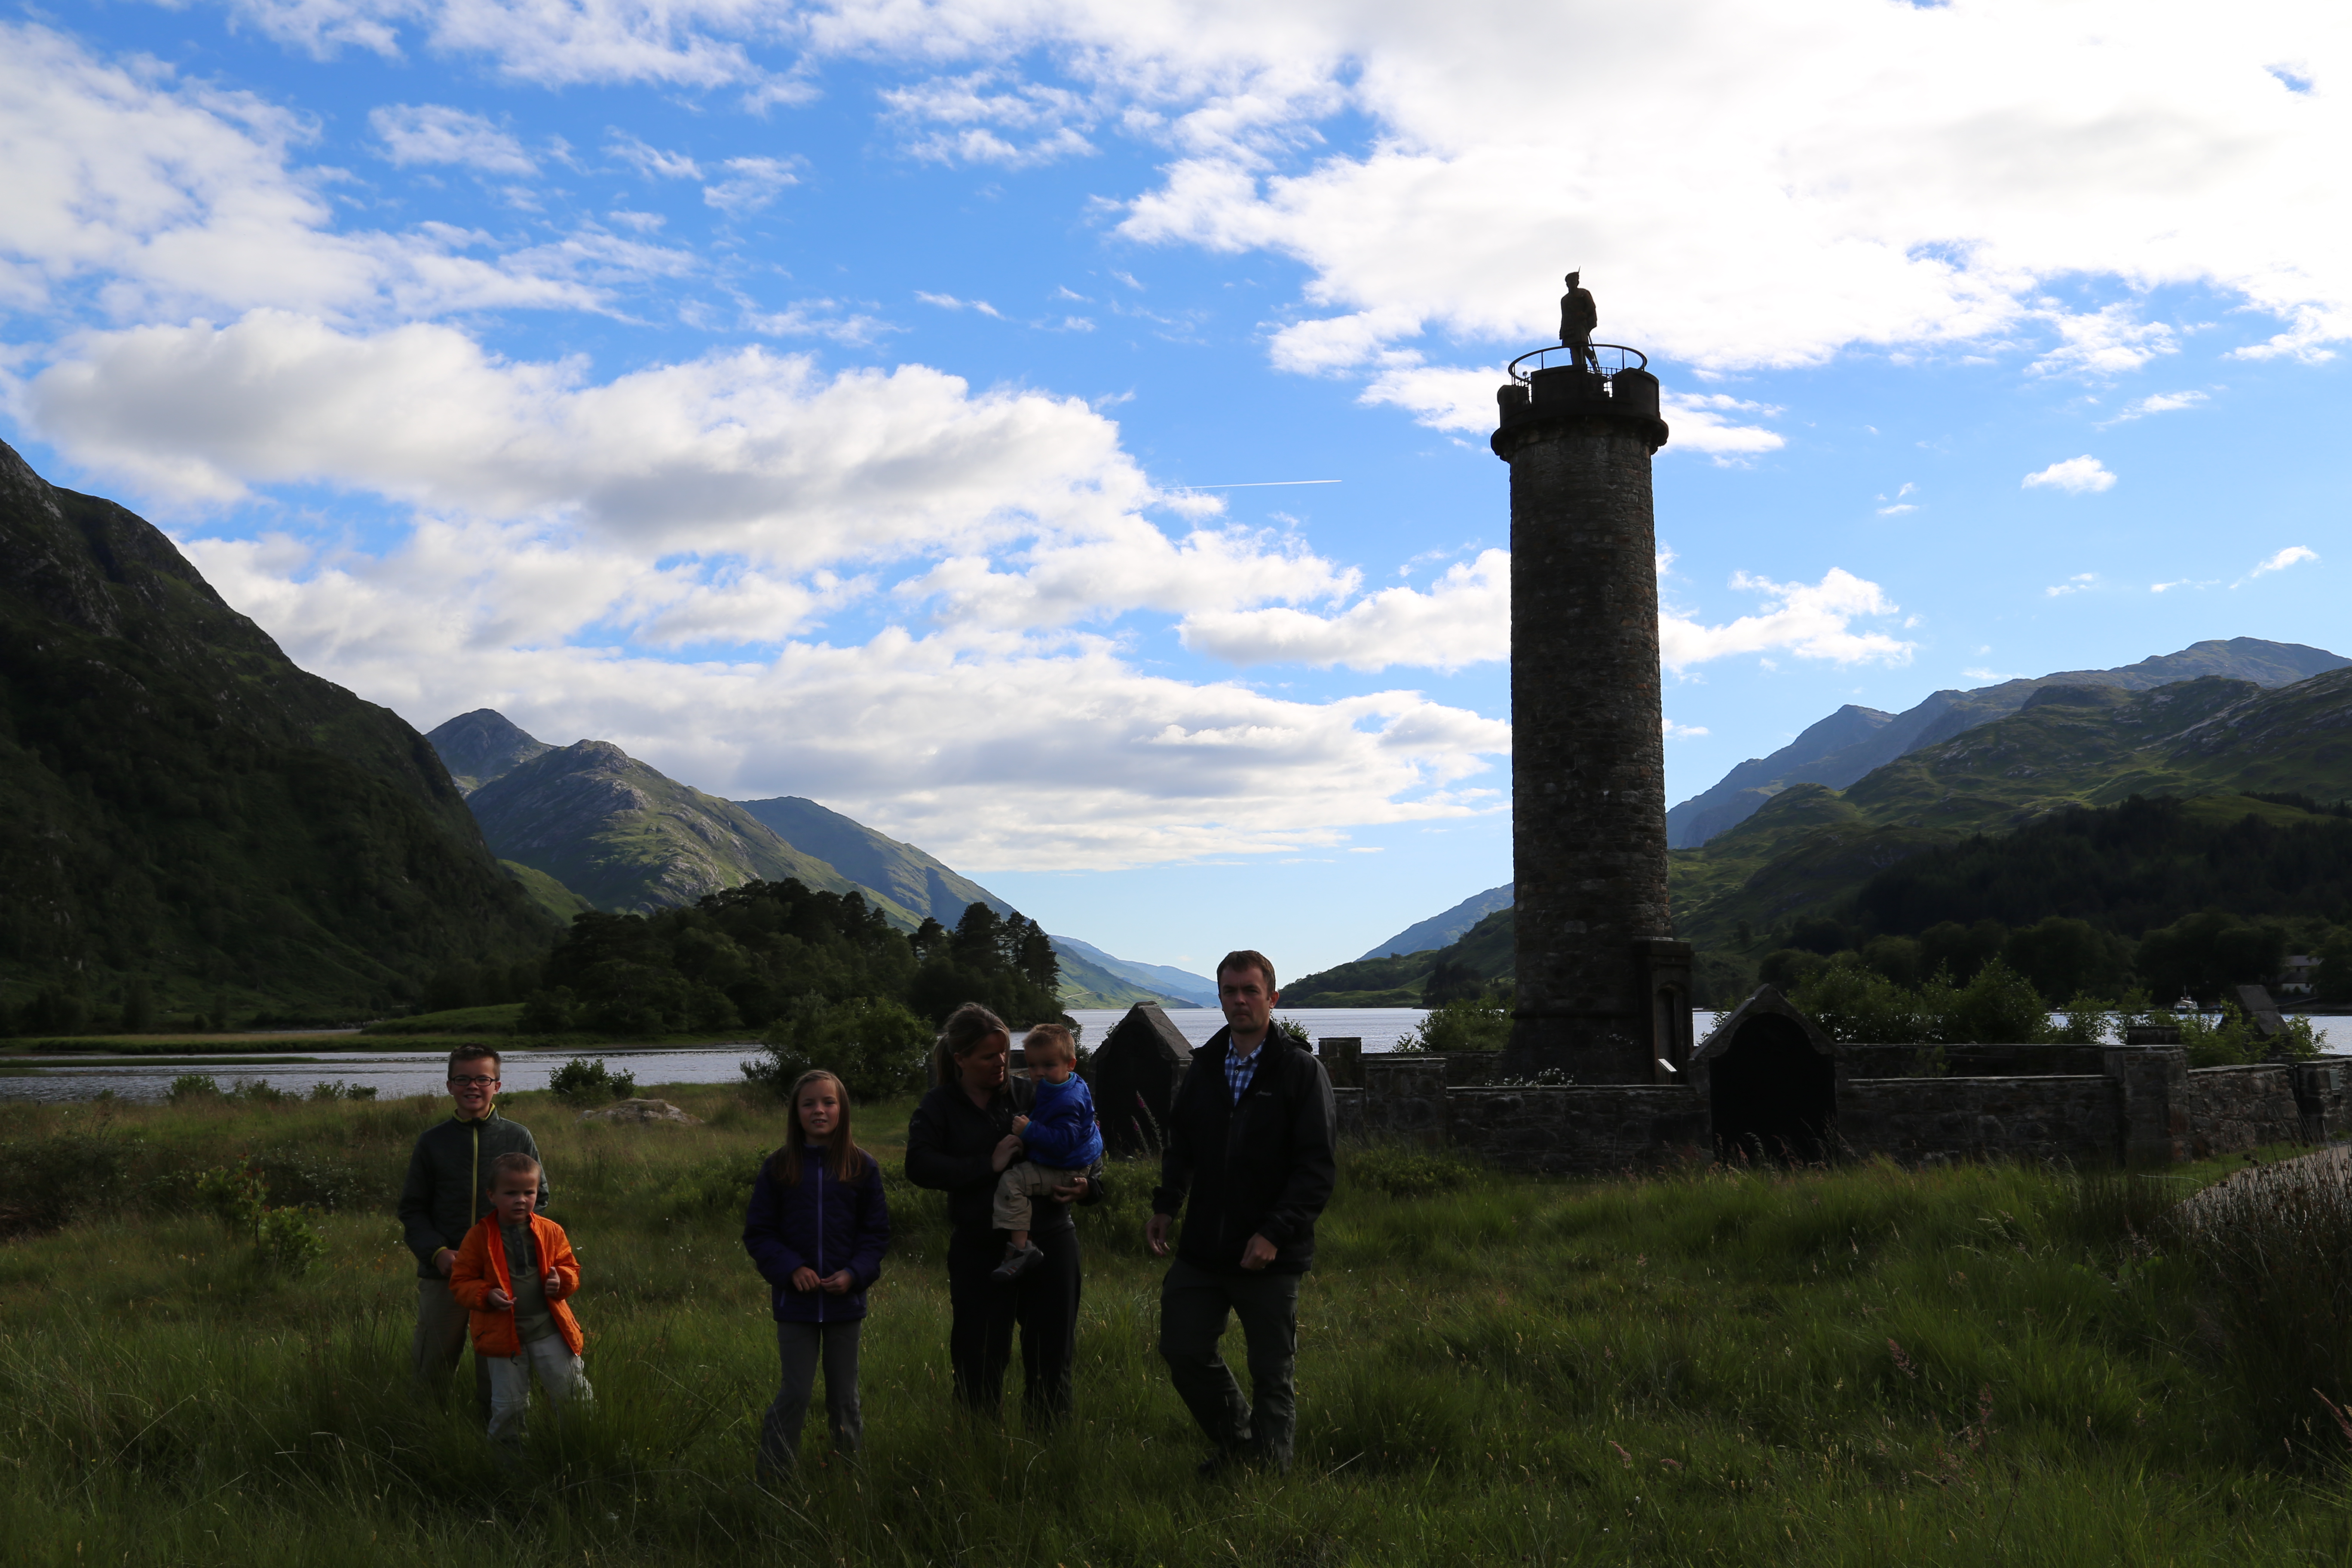
[[[600,910],[689,905],[746,882],[797,879],[863,893],[903,931],[922,924],[731,799],[649,769],[609,741],[579,741],[513,766],[468,799],[503,860],[546,872]]]

